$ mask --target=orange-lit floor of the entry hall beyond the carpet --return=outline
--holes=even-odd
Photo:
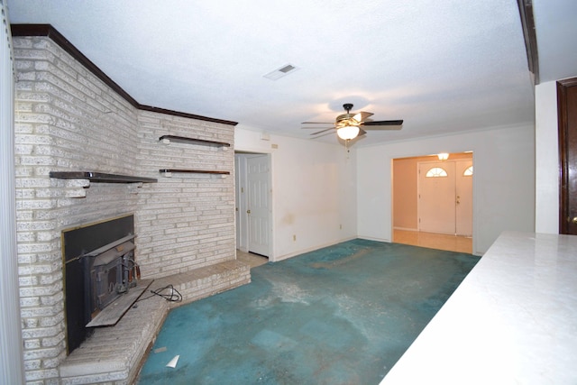
[[[467,252],[472,254],[472,237],[461,235],[394,230],[393,242],[446,250],[449,252]]]

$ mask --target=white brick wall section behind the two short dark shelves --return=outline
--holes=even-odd
[[[234,151],[159,141],[162,135],[177,135],[233,145],[234,127],[141,111],[138,135],[141,172],[152,170],[146,176],[159,178],[139,194],[136,242],[142,275],[165,277],[234,260]],[[159,169],[227,170],[231,175],[172,173],[166,178]]]

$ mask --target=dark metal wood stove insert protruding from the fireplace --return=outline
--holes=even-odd
[[[91,313],[100,310],[136,286],[137,265],[133,242],[124,242],[96,255],[90,269]]]

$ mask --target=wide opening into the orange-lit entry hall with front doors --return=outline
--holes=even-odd
[[[394,159],[393,242],[472,253],[472,163],[472,152]]]

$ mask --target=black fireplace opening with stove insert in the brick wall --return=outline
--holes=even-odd
[[[137,285],[135,237],[132,214],[62,232],[67,353],[93,333],[87,325],[105,307]]]

